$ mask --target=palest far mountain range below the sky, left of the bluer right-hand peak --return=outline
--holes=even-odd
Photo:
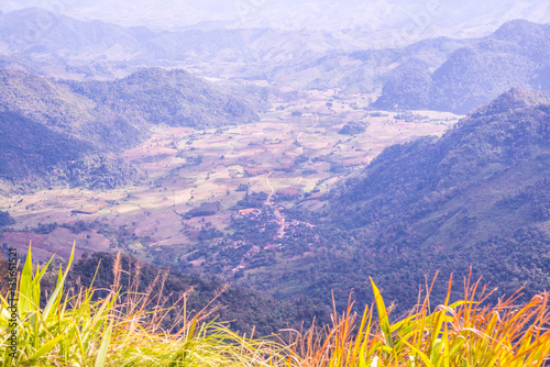
[[[367,29],[328,32],[262,26],[158,31],[80,21],[37,8],[0,14],[0,55],[8,65],[76,80],[114,79],[143,66],[169,66],[297,89],[372,92],[380,90],[395,64],[416,57],[437,67],[453,51],[470,44],[469,40],[439,37],[381,48],[373,45],[373,35]]]

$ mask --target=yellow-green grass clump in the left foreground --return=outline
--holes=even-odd
[[[204,322],[207,310],[188,318],[188,294],[182,294],[177,305],[183,326],[163,330],[160,324],[167,309],[154,290],[162,288],[164,280],[147,285],[145,292],[130,289],[121,302],[118,263],[106,298],[92,301],[92,287],[70,296],[65,281],[72,263],[73,256],[65,271],[59,269],[55,290],[41,307],[41,281],[50,263],[33,271],[29,249],[19,279],[15,357],[7,348],[11,312],[7,298],[0,298],[2,366],[268,366],[278,356],[274,343],[253,341],[221,324]],[[150,304],[156,310],[146,311]]]

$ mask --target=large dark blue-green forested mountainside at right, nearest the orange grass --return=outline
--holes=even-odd
[[[437,270],[443,279],[454,273],[460,293],[470,265],[474,279],[499,288],[493,301],[524,282],[527,296],[548,289],[549,138],[550,99],[510,89],[441,138],[386,148],[317,210],[305,201],[301,211],[286,211],[287,221],[316,223],[315,232],[295,235],[295,247],[286,242],[293,256],[284,265],[246,274],[242,283],[326,302],[331,289],[337,299],[353,290],[363,303],[373,301],[372,277],[402,311]],[[437,283],[435,299],[446,290]]]

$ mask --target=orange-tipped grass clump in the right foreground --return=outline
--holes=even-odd
[[[464,298],[451,303],[452,277],[447,298],[432,309],[430,289],[409,314],[391,323],[389,309],[372,281],[375,308],[363,316],[350,301],[342,315],[322,333],[297,333],[294,354],[301,366],[542,366],[550,355],[550,294],[515,304],[515,297],[491,307],[480,282],[464,282]],[[419,300],[420,301],[420,300]],[[377,314],[377,318],[374,314]],[[358,322],[359,321],[359,322]]]

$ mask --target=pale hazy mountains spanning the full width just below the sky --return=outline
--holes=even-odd
[[[373,49],[366,34],[273,29],[153,31],[40,9],[0,15],[0,55],[46,76],[112,79],[143,66],[298,90],[382,96],[372,108],[466,113],[512,87],[548,92],[548,24],[510,21],[481,38]]]

